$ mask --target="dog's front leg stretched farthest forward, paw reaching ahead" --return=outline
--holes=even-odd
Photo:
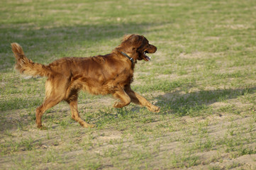
[[[147,99],[145,99],[143,96],[140,96],[139,94],[135,93],[132,89],[130,89],[130,86],[128,86],[125,89],[128,96],[130,96],[131,102],[138,104],[140,106],[145,106],[148,108],[148,111],[156,112],[158,113],[160,111],[160,107],[153,105]]]

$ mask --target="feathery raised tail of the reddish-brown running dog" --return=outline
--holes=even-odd
[[[16,42],[11,43],[11,49],[13,50],[14,56],[16,58],[15,68],[21,72],[21,74],[27,74],[33,77],[46,77],[48,75],[48,67],[29,60],[24,55],[21,45],[18,45]]]

